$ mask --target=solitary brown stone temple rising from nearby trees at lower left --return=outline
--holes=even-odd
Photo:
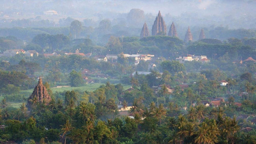
[[[36,97],[37,102],[44,103],[46,105],[51,101],[51,96],[48,94],[46,87],[43,85],[41,76],[39,77],[39,81],[37,86],[34,88],[33,93],[28,98],[28,107],[31,107],[31,101]]]

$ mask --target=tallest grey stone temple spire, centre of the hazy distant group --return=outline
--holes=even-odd
[[[152,26],[152,36],[154,35],[166,35],[166,25],[160,11]]]

